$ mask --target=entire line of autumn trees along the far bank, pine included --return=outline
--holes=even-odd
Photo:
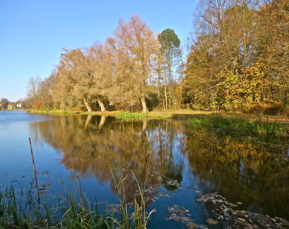
[[[63,49],[49,77],[30,78],[27,100],[88,111],[286,107],[288,0],[201,0],[193,18],[194,35],[183,47],[172,29],[154,36],[139,16],[120,19],[104,43]]]

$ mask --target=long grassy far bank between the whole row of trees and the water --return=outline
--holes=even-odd
[[[284,122],[288,119],[278,117],[254,116],[242,113],[211,113],[198,112],[191,110],[172,110],[172,111],[150,111],[150,112],[124,112],[124,111],[105,111],[105,112],[81,112],[81,111],[36,111],[25,110],[31,113],[65,113],[65,114],[86,114],[86,115],[105,115],[115,116],[121,120],[187,120],[190,125],[202,125],[223,130],[251,132],[257,134],[272,134],[274,136],[288,137],[289,127]],[[281,122],[279,122],[281,121]]]

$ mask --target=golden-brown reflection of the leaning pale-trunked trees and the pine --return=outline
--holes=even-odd
[[[184,137],[185,129],[177,128],[175,123],[114,121],[114,118],[105,116],[63,116],[33,123],[31,128],[57,152],[63,153],[61,163],[67,169],[82,176],[92,174],[99,180],[110,180],[112,190],[112,161],[120,168],[138,173],[141,180],[148,163],[149,174],[182,180],[184,161],[175,159],[179,144],[173,144],[173,139],[179,135]],[[149,176],[150,185],[160,184],[155,176]],[[130,198],[134,198],[137,190],[131,185],[132,179],[129,176],[126,181],[129,184],[126,193]]]

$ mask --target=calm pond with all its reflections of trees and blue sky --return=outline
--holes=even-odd
[[[266,226],[270,221],[277,228],[276,220],[289,220],[288,139],[184,121],[0,111],[0,189],[29,186],[34,178],[29,137],[38,183],[51,204],[64,193],[59,178],[67,187],[79,178],[101,211],[117,204],[114,164],[140,180],[148,171],[147,210],[157,211],[147,228],[225,228],[228,221],[250,223],[250,215],[252,225],[264,221],[264,228],[275,228]],[[128,202],[139,195],[131,176],[125,192]]]

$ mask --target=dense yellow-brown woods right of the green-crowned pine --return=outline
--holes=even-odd
[[[288,103],[289,1],[201,0],[183,89],[195,109]]]

